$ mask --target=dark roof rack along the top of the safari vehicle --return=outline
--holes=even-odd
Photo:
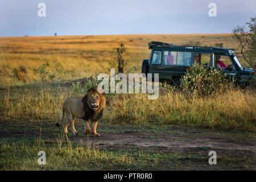
[[[164,43],[164,42],[149,42],[148,43],[148,48],[151,49],[152,47],[184,47],[184,48],[193,48],[193,49],[197,49],[197,48],[201,48],[201,49],[220,49],[220,50],[232,50],[232,51],[237,51],[237,49],[234,48],[223,48],[223,47],[207,47],[207,46],[175,46],[172,43]]]

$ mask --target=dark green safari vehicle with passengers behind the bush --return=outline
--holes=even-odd
[[[172,85],[180,83],[180,78],[188,67],[193,64],[220,69],[229,77],[243,80],[253,77],[253,69],[244,69],[234,53],[234,49],[221,47],[175,46],[162,42],[150,42],[152,49],[150,58],[144,59],[142,73],[159,73],[160,82],[170,82]],[[154,77],[154,74],[152,74]]]

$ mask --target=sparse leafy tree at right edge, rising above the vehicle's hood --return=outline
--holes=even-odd
[[[256,69],[256,15],[251,18],[250,22],[244,26],[236,26],[233,28],[233,38],[237,40],[241,47],[243,59]]]

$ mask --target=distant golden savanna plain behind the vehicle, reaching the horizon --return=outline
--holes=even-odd
[[[224,43],[224,47],[236,48],[237,44],[231,36],[202,34],[0,38],[0,84],[6,86],[40,82],[42,78],[34,69],[47,62],[49,66],[46,67],[46,72],[54,75],[53,80],[109,73],[108,61],[114,60],[113,47],[117,47],[118,42],[123,42],[127,47],[124,57],[127,61],[125,72],[141,72],[142,60],[147,59],[150,54],[147,43],[152,40],[176,45],[200,42],[201,46],[214,46],[215,43]],[[19,70],[20,66],[26,69],[26,73],[15,74],[14,69]]]

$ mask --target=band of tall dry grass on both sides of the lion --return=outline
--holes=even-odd
[[[108,96],[102,122],[135,126],[196,126],[224,130],[255,131],[255,91],[229,90],[219,96],[186,96],[181,92],[162,92],[157,100],[147,94]],[[59,122],[67,97],[76,96],[72,88],[12,88],[2,92],[0,120]]]

